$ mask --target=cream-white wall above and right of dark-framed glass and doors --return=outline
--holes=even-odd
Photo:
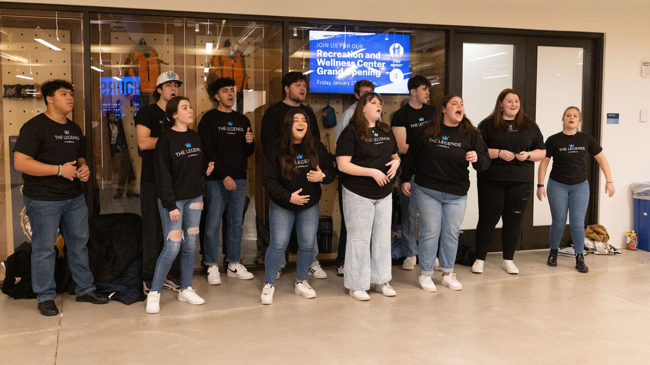
[[[29,3],[132,7],[131,0],[110,3],[88,0],[36,0]],[[151,3],[153,4],[153,3]],[[640,77],[640,61],[650,60],[650,10],[647,0],[429,0],[417,8],[395,1],[270,1],[240,0],[207,3],[198,0],[158,0],[160,9],[229,14],[261,14],[306,18],[333,18],[509,27],[554,31],[603,32],[604,153],[612,165],[617,193],[611,199],[601,191],[600,223],[612,243],[622,245],[623,234],[632,227],[630,183],[650,181],[650,123],[639,123],[639,111],[650,109],[650,78]],[[209,8],[209,10],[208,10]],[[606,125],[605,113],[620,114],[619,125]],[[604,177],[601,176],[601,181]],[[602,189],[601,189],[602,190]]]

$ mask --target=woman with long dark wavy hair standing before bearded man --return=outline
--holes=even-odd
[[[316,297],[307,283],[318,232],[320,184],[334,180],[336,170],[325,146],[309,130],[304,110],[287,112],[278,142],[265,151],[264,186],[270,198],[268,219],[271,239],[264,259],[264,287],[260,301],[273,303],[276,275],[283,263],[292,227],[298,237],[297,272],[294,292],[305,298]]]

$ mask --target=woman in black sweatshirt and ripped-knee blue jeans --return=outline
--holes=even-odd
[[[147,297],[147,313],[160,311],[162,284],[172,262],[182,249],[181,288],[178,300],[201,305],[205,300],[192,289],[194,252],[199,221],[203,210],[203,180],[210,175],[214,162],[207,163],[201,151],[201,138],[189,129],[194,111],[187,97],[172,97],[165,108],[166,123],[156,142],[153,160],[158,188],[158,210],[161,216],[164,246],[156,261]]]

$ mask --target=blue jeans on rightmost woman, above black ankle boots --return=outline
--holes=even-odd
[[[580,184],[567,185],[549,179],[546,195],[551,207],[551,248],[560,247],[569,212],[573,248],[575,253],[584,253],[584,216],[589,205],[589,182],[585,180]]]

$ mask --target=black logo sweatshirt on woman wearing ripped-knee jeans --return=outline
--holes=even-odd
[[[203,177],[207,160],[201,151],[201,137],[188,129],[161,132],[154,154],[158,197],[170,212],[176,201],[203,195]]]

